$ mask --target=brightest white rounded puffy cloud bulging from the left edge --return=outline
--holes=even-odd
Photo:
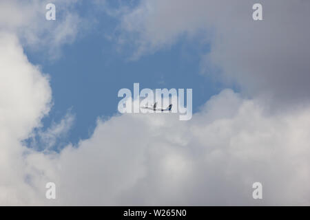
[[[0,32],[1,126],[8,136],[25,138],[49,111],[48,76],[29,63],[16,36]]]

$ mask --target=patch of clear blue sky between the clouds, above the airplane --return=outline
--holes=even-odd
[[[85,1],[79,8],[83,9],[81,16],[89,16],[88,11],[92,11],[92,5]],[[192,88],[194,113],[223,89],[214,77],[200,74],[200,56],[209,51],[209,45],[180,37],[171,47],[131,61],[132,45],[122,45],[121,52],[116,52],[119,45],[105,37],[112,35],[116,25],[114,18],[96,13],[94,26],[74,43],[64,45],[56,60],[25,49],[29,61],[50,75],[54,105],[43,118],[43,130],[59,122],[68,111],[75,115],[72,129],[61,140],[64,144],[90,137],[98,117],[115,115],[121,100],[118,90],[133,89],[133,83],[140,83],[141,89]]]

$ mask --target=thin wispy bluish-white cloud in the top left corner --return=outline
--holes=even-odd
[[[47,21],[45,5],[50,1],[3,0],[0,2],[0,30],[17,34],[23,45],[58,58],[60,47],[72,43],[83,28],[82,19],[74,10],[77,0],[54,0],[56,21]]]

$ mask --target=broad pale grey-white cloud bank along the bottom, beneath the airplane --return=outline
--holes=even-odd
[[[309,109],[268,115],[256,100],[225,90],[188,122],[115,116],[99,120],[78,146],[27,162],[59,187],[50,204],[309,205]],[[255,181],[262,201],[251,197]]]

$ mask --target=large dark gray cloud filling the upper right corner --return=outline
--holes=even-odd
[[[138,58],[205,32],[202,41],[211,52],[202,58],[203,72],[220,68],[220,80],[269,104],[304,102],[310,94],[310,3],[259,2],[263,21],[252,19],[257,1],[141,1],[124,12],[121,37],[134,42]]]

